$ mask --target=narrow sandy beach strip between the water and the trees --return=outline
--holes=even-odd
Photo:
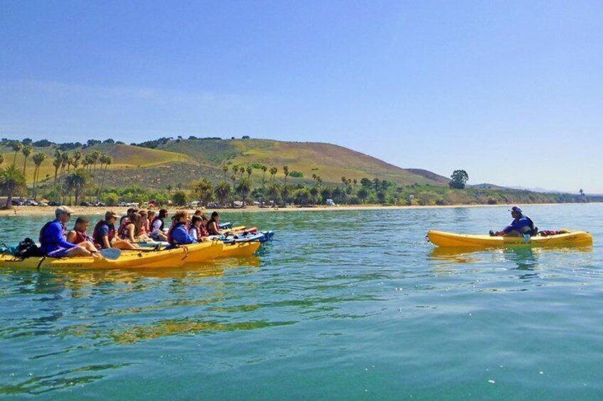
[[[540,203],[540,204],[518,204],[521,207],[538,207],[538,206],[563,206],[563,205],[575,205],[577,203]],[[592,202],[588,204],[599,204],[599,202]],[[458,207],[511,207],[511,204],[455,204],[446,206],[381,206],[378,204],[370,205],[345,205],[345,206],[317,206],[317,207],[245,207],[245,209],[202,209],[204,212],[209,214],[214,210],[220,213],[258,213],[258,212],[324,212],[324,211],[348,211],[348,210],[394,210],[394,209],[450,209]],[[71,207],[75,210],[75,214],[105,214],[107,210],[112,210],[117,214],[126,214],[127,207]],[[169,212],[180,210],[178,207],[167,208]],[[33,207],[33,206],[19,206],[14,209],[2,209],[0,210],[0,216],[43,216],[52,215],[54,207]],[[157,209],[156,209],[157,210]],[[189,212],[194,212],[194,209],[188,209]]]

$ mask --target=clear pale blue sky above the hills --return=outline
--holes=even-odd
[[[603,193],[601,1],[2,1],[0,137],[336,143]]]

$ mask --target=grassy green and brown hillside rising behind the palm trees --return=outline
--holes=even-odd
[[[96,143],[91,145],[70,144],[70,151],[80,150],[87,154],[98,150],[112,156],[107,173],[107,185],[122,187],[137,184],[141,187],[162,189],[166,185],[191,182],[206,177],[216,182],[230,177],[231,170],[223,171],[223,165],[251,166],[252,180],[262,177],[261,165],[277,167],[275,177],[284,177],[282,167],[289,166],[290,182],[311,182],[312,176],[320,176],[323,182],[341,184],[341,177],[358,182],[366,177],[395,182],[397,185],[447,185],[449,179],[434,172],[420,169],[404,169],[383,160],[330,143],[284,142],[267,139],[219,139],[161,138],[141,144]],[[90,143],[90,141],[89,141]],[[46,144],[46,143],[45,143]],[[148,147],[147,147],[148,146]],[[41,180],[52,180],[53,153],[60,145],[34,146],[33,153],[43,152],[48,158],[41,165]],[[5,163],[11,163],[14,152],[0,148]],[[23,155],[18,153],[16,164],[23,165]],[[270,175],[266,173],[266,177]],[[27,178],[33,180],[33,161],[28,159]]]

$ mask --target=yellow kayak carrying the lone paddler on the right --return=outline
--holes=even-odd
[[[551,236],[502,237],[471,234],[454,234],[444,231],[427,231],[429,242],[435,246],[589,246],[592,235],[586,231],[566,231]]]

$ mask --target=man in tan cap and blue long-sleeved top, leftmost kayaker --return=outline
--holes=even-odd
[[[71,217],[73,210],[66,206],[55,210],[56,219],[44,224],[40,230],[41,251],[50,258],[73,258],[74,256],[95,256],[95,246],[84,241],[70,243],[65,238],[65,223]]]

